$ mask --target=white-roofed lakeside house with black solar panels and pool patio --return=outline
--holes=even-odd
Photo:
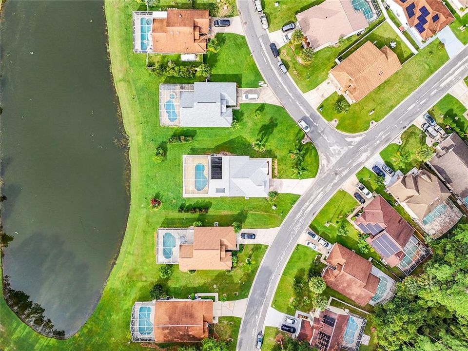
[[[184,197],[267,197],[271,158],[226,155],[184,155]]]

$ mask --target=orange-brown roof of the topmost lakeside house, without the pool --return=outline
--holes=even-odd
[[[153,52],[203,54],[210,32],[208,10],[167,11],[167,18],[153,19]]]

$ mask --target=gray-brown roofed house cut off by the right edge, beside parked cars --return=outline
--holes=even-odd
[[[436,147],[429,164],[468,210],[468,145],[457,133]]]

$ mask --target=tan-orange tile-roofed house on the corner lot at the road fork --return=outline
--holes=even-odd
[[[384,46],[378,49],[370,41],[359,47],[329,72],[338,94],[349,103],[357,102],[398,71],[398,56]]]

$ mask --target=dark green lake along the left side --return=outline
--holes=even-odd
[[[93,312],[128,217],[106,44],[102,1],[3,5],[1,221],[14,236],[3,273],[67,335]]]

